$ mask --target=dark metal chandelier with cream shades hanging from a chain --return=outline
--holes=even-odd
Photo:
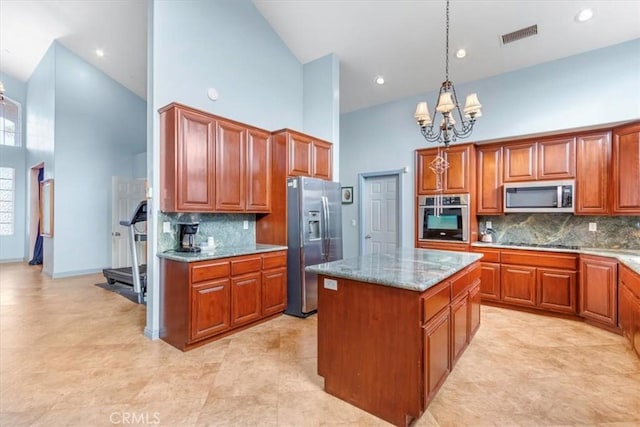
[[[480,102],[478,95],[472,93],[467,96],[464,110],[460,111],[460,104],[456,95],[456,89],[449,80],[449,0],[447,0],[447,39],[445,47],[445,81],[440,86],[438,94],[438,104],[433,112],[433,116],[429,114],[429,106],[426,102],[418,103],[415,118],[420,126],[422,136],[429,142],[443,143],[445,147],[449,147],[452,141],[458,138],[466,138],[471,135],[473,124],[476,119],[482,116],[480,112]],[[464,116],[463,116],[464,112]],[[434,121],[436,113],[442,114],[442,122],[440,126],[434,129]],[[459,127],[456,127],[459,122]]]

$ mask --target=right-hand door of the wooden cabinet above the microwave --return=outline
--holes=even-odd
[[[575,138],[538,141],[538,179],[570,179],[575,176]]]

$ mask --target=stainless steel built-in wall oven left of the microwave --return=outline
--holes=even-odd
[[[441,209],[436,207],[437,197]],[[417,233],[418,240],[468,242],[469,195],[419,196]]]

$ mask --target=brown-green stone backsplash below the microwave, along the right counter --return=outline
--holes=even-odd
[[[640,249],[640,216],[582,216],[522,213],[478,216],[479,230],[492,222],[498,242],[563,244],[591,248]],[[589,231],[595,222],[597,231]]]

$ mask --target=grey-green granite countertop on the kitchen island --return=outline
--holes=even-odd
[[[312,265],[307,271],[422,292],[479,260],[481,254],[400,248]]]

